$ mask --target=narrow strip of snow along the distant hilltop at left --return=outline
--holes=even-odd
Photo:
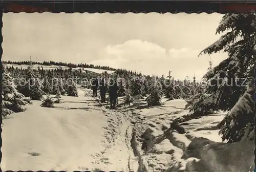
[[[14,65],[14,64],[6,64],[7,67],[12,67],[13,68],[22,68],[22,69],[27,69],[29,67],[29,65]],[[59,69],[59,68],[62,68],[63,70],[65,69],[69,69],[69,67],[66,67],[66,66],[55,66],[55,65],[51,65],[51,66],[46,66],[46,65],[32,65],[32,69],[38,69],[38,67],[41,69],[41,68],[44,68],[45,70],[53,70],[53,69]],[[94,69],[94,68],[72,68],[73,70],[79,70],[81,69],[82,72],[94,72],[94,73],[98,73],[98,74],[101,74],[102,72],[106,72],[108,74],[112,74],[114,73],[115,71],[109,71],[109,70],[102,70],[102,69]]]

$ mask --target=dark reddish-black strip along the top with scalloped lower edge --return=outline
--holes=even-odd
[[[56,2],[55,2],[56,1]],[[86,1],[86,0],[44,0],[44,1],[8,1],[2,0],[3,12],[26,13],[247,13],[256,11],[256,2],[253,0],[149,0],[149,1]]]

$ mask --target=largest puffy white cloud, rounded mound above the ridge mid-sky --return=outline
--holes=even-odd
[[[130,68],[131,64],[135,67],[148,60],[164,59],[165,49],[152,42],[132,39],[123,44],[107,46],[99,52],[99,57],[91,63],[104,65],[107,62],[115,68]]]

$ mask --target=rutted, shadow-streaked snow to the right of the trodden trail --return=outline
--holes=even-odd
[[[162,106],[134,109],[133,113],[139,114],[141,119],[135,128],[143,170],[184,171],[187,161],[181,156],[193,138],[204,137],[222,142],[217,124],[225,114],[191,119],[181,123],[176,130],[170,128],[174,119],[188,114],[188,110],[184,110],[185,105],[185,100],[171,100]]]

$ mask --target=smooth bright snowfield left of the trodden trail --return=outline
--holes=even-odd
[[[63,100],[56,108],[34,101],[4,120],[2,170],[129,171],[134,158],[125,115],[95,106],[95,98],[81,91]]]

